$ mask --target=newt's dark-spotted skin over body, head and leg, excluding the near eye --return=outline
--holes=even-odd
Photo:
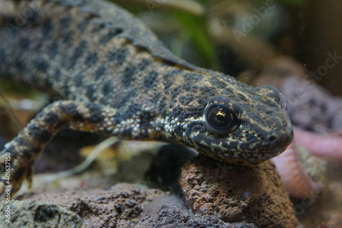
[[[278,155],[293,138],[278,90],[177,58],[112,3],[0,1],[0,9],[0,77],[64,99],[45,107],[1,151],[2,191],[6,153],[14,193],[31,179],[42,148],[66,128],[180,143],[243,164]],[[216,134],[205,127],[205,109],[222,102],[239,110],[239,124]]]

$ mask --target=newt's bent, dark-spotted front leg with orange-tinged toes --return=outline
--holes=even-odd
[[[117,110],[96,103],[56,101],[45,107],[0,155],[0,194],[12,186],[15,194],[26,179],[31,183],[32,166],[45,145],[62,129],[76,129],[105,134],[120,132],[116,127]],[[122,129],[125,126],[122,126]]]

